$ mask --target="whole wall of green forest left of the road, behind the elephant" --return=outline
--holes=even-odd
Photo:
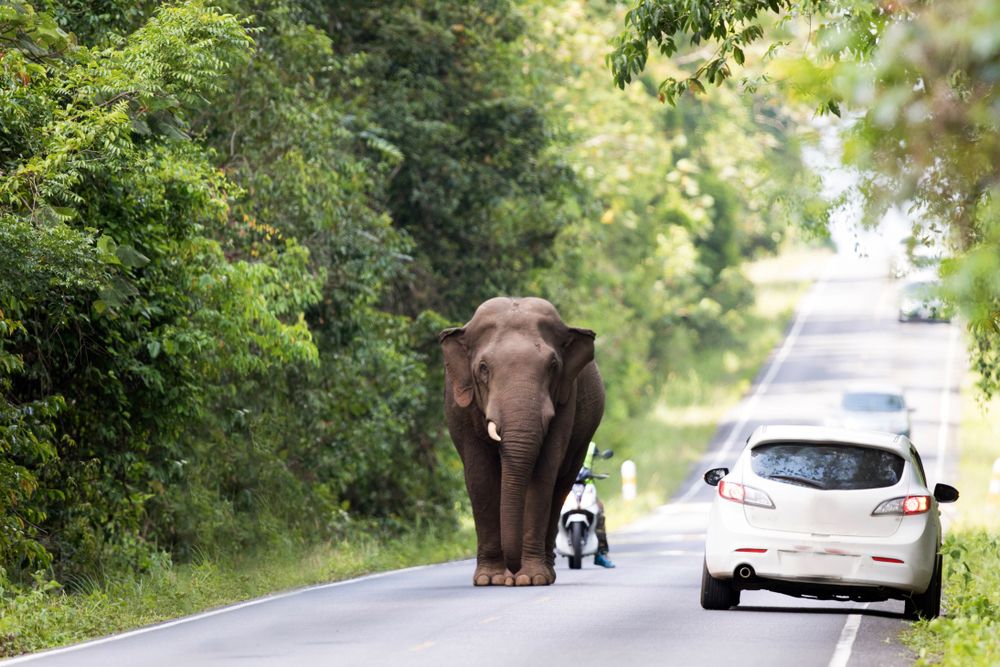
[[[0,2],[9,577],[451,525],[440,329],[547,296],[613,429],[823,217],[779,100],[603,85],[604,3],[222,4]]]

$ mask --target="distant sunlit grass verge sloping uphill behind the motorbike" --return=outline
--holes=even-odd
[[[598,445],[613,447],[615,458],[595,467],[611,473],[598,482],[608,529],[627,524],[659,507],[677,491],[700,458],[727,410],[739,402],[782,340],[789,320],[830,251],[797,247],[778,257],[748,263],[743,269],[756,286],[756,304],[744,318],[739,340],[730,349],[693,355],[686,370],[672,373],[650,413],[616,427],[602,427]],[[636,464],[638,495],[622,500],[621,462]],[[614,545],[612,544],[612,548]]]

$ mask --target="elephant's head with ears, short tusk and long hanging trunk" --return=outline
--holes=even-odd
[[[525,495],[543,445],[566,447],[577,375],[594,359],[594,332],[566,326],[544,299],[495,298],[464,327],[439,335],[451,400],[500,455],[500,532],[508,569],[520,567]],[[562,442],[554,442],[562,440]]]

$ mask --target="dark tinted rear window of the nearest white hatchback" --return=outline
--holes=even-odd
[[[754,474],[812,489],[880,489],[899,482],[906,461],[860,445],[781,442],[750,452]]]

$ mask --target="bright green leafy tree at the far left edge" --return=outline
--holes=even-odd
[[[37,477],[22,498],[60,567],[134,564],[213,379],[314,359],[282,317],[318,295],[294,241],[228,262],[205,233],[235,192],[185,118],[245,58],[245,22],[161,6],[88,48],[29,5],[0,11],[4,484]]]

